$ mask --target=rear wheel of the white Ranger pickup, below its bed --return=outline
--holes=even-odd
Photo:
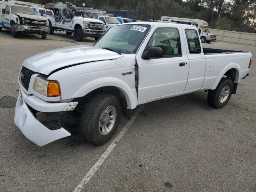
[[[226,105],[233,92],[233,82],[229,78],[222,78],[214,90],[208,92],[208,103],[214,108]]]

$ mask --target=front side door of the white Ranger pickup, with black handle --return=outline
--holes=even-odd
[[[177,26],[178,28],[179,26]],[[163,50],[162,58],[142,58],[136,55],[139,66],[138,103],[168,98],[182,94],[188,81],[189,60],[184,38],[177,28],[157,28],[146,42]]]

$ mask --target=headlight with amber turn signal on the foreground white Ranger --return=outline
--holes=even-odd
[[[60,85],[56,81],[46,81],[40,77],[34,80],[33,90],[48,97],[60,96]]]

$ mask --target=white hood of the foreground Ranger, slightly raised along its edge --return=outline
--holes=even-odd
[[[109,50],[78,45],[34,55],[24,60],[23,66],[34,72],[48,75],[50,72],[62,67],[86,62],[111,60],[120,58],[121,56]]]

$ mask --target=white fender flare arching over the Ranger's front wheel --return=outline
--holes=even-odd
[[[125,96],[128,109],[134,109],[137,106],[138,100],[136,98],[136,89],[134,91],[122,80],[118,78],[100,78],[93,80],[86,85],[82,86],[72,98],[83,97],[97,88],[105,86],[114,86],[118,88]],[[134,85],[135,86],[135,85]]]

